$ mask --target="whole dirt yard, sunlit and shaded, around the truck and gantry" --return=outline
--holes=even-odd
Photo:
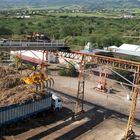
[[[126,100],[126,91],[119,84],[109,80],[116,92],[105,94],[94,90],[96,82],[86,81],[85,113],[72,119],[78,79],[53,77],[54,89],[62,92],[58,95],[63,100],[63,109],[57,113],[40,113],[0,128],[0,140],[120,140],[123,137],[128,117],[119,112],[128,114],[131,101]],[[137,118],[140,117],[139,114],[140,99]],[[134,131],[137,136],[140,135],[139,121],[135,122]],[[138,139],[140,138],[137,137],[136,140]]]

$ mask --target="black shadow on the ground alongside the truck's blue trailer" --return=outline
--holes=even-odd
[[[34,115],[30,118],[26,118],[24,120],[21,120],[17,123],[12,123],[10,125],[7,125],[5,127],[0,128],[0,140],[2,139],[2,136],[15,136],[19,135],[21,133],[24,133],[26,131],[29,131],[31,129],[34,129],[36,127],[42,126],[42,125],[49,125],[51,123],[55,123],[59,120],[66,120],[70,116],[73,116],[72,110],[63,107],[63,109],[59,112],[43,112],[38,113],[37,115]],[[26,127],[25,127],[26,126]]]

